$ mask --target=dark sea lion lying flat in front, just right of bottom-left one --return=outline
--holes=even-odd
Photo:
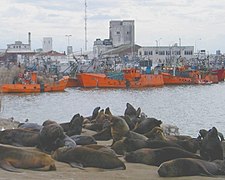
[[[125,164],[117,157],[87,147],[59,148],[52,157],[57,161],[69,163],[73,167],[126,169]]]

